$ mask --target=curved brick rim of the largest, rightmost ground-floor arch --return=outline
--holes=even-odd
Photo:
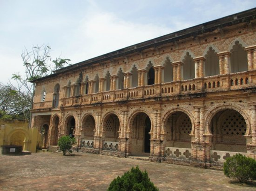
[[[235,110],[238,113],[240,113],[245,120],[246,123],[246,133],[245,135],[249,135],[251,132],[251,125],[250,125],[250,120],[249,120],[249,116],[247,111],[245,111],[244,109],[242,109],[241,107],[239,107],[238,105],[235,104],[219,104],[216,105],[212,108],[210,108],[210,110],[207,111],[207,113],[205,114],[205,121],[204,121],[204,132],[206,134],[211,135],[211,129],[210,129],[210,122],[212,121],[212,118],[215,116],[215,114],[217,114],[219,111],[222,110],[226,110],[226,109],[231,109],[231,110]]]

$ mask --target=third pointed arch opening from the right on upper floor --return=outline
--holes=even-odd
[[[181,57],[181,62],[183,62],[183,66],[181,67],[181,76],[183,76],[183,80],[195,78],[195,63],[193,58],[194,54],[192,54],[190,51],[185,51]],[[184,67],[186,69],[183,69]]]

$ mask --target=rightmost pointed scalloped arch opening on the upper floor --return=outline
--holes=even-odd
[[[235,40],[232,42],[230,49],[230,66],[231,73],[248,71],[247,53],[245,51],[246,45],[242,41]]]

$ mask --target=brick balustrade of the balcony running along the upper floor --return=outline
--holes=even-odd
[[[161,97],[164,98],[177,95],[200,96],[199,93],[225,92],[255,87],[255,80],[256,71],[246,71],[233,74],[194,78],[192,80],[172,81],[148,86],[65,97],[59,100],[61,104],[58,104],[58,107],[55,108],[58,109],[60,107],[130,101],[147,98],[159,99]],[[53,101],[38,102],[34,104],[33,109],[54,108],[53,105],[55,105]]]

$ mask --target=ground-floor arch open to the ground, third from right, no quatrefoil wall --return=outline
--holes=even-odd
[[[131,121],[131,155],[150,153],[151,120],[146,113],[140,112]]]

